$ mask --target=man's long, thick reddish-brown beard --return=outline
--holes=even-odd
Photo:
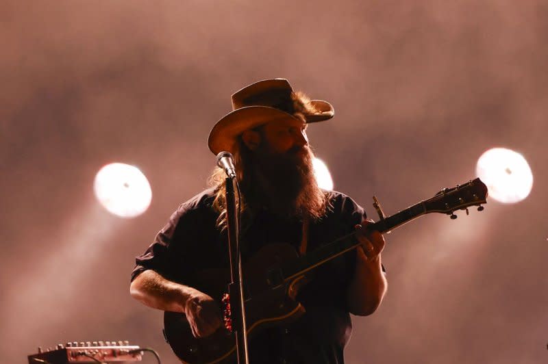
[[[251,207],[266,207],[273,213],[299,220],[318,220],[325,215],[327,198],[314,177],[314,155],[308,147],[272,153],[260,148],[251,163]]]

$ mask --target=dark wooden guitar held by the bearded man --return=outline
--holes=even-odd
[[[479,179],[474,179],[445,188],[434,197],[416,203],[392,216],[384,217],[376,198],[375,209],[380,220],[369,224],[366,229],[387,233],[427,213],[446,213],[451,219],[457,218],[454,211],[477,206],[482,211],[486,203],[487,187]],[[242,270],[245,274],[245,312],[248,338],[262,328],[287,324],[297,320],[305,312],[296,300],[297,294],[308,281],[308,273],[323,263],[334,259],[360,245],[354,237],[357,231],[307,252],[299,257],[290,244],[269,244],[253,255]],[[220,306],[227,289],[227,280],[219,271],[199,272],[192,287],[209,294],[218,300]],[[164,337],[183,362],[225,363],[234,360],[236,339],[234,333],[225,327],[219,328],[213,335],[196,338],[192,335],[184,313],[164,313]]]

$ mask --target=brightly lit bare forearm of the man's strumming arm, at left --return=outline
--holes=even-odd
[[[133,298],[153,309],[184,313],[192,287],[169,281],[153,270],[145,270],[132,282],[129,293]]]

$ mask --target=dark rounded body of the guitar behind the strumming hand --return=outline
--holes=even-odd
[[[280,263],[297,257],[290,244],[269,244],[242,266],[248,337],[253,337],[262,328],[293,322],[305,312],[295,297],[306,284],[306,276],[283,281],[279,271]],[[227,291],[228,282],[227,272],[208,270],[197,274],[192,287],[212,296],[222,307],[221,298]],[[235,358],[234,333],[221,327],[209,337],[196,338],[184,313],[164,313],[164,336],[183,363],[227,363]]]

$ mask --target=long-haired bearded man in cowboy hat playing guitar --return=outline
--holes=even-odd
[[[306,128],[334,116],[332,105],[294,92],[286,79],[253,83],[232,95],[233,111],[209,137],[210,150],[234,155],[240,185],[243,265],[265,246],[286,242],[305,255],[370,224],[362,207],[314,178]],[[228,268],[226,203],[219,169],[213,186],[173,213],[137,257],[130,292],[149,307],[186,315],[192,335],[223,326],[219,299],[192,287],[197,272]],[[319,265],[297,294],[299,319],[260,330],[249,340],[250,363],[344,363],[354,315],[370,315],[386,292],[384,239],[358,229],[358,248]],[[247,274],[244,270],[243,278]],[[222,330],[223,328],[221,328]],[[235,360],[235,359],[234,359]]]

